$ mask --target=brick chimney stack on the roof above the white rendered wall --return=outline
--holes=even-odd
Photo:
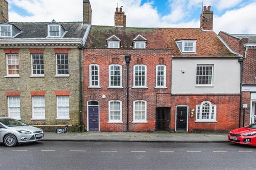
[[[200,28],[203,30],[213,30],[213,11],[211,6],[204,6],[203,13],[201,14]]]

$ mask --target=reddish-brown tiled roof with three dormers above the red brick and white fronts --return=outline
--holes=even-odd
[[[117,28],[92,25],[85,47],[107,48],[106,39],[121,39],[121,48],[132,49],[133,39],[145,37],[147,49],[173,49],[174,57],[237,57],[223,45],[216,33],[200,28]],[[196,54],[182,54],[176,40],[196,40]]]

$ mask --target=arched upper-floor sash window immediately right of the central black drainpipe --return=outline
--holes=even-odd
[[[134,87],[147,86],[147,66],[146,65],[133,66],[133,86]]]

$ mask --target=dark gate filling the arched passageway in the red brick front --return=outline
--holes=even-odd
[[[159,107],[156,108],[156,131],[170,130],[170,108]]]

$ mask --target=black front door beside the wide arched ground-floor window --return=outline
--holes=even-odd
[[[176,108],[176,130],[187,130],[188,107],[178,106]]]

